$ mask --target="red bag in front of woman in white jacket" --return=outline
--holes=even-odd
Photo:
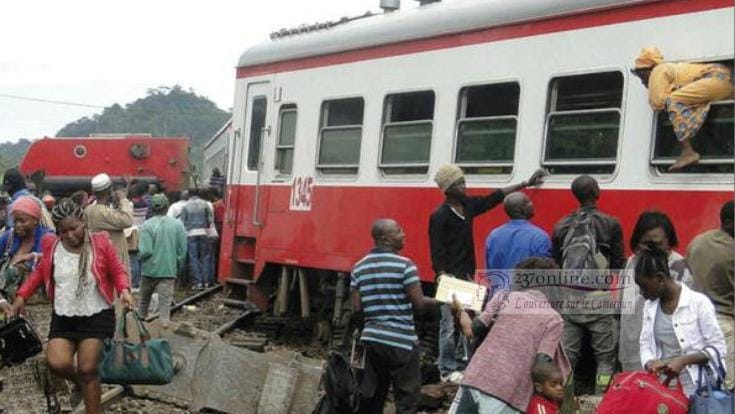
[[[655,374],[635,371],[615,375],[597,414],[687,414],[688,409],[681,385],[672,390]]]

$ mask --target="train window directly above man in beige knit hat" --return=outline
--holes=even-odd
[[[510,174],[518,126],[517,82],[460,91],[454,161],[468,174]]]

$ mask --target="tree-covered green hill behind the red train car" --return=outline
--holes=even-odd
[[[149,89],[145,98],[125,107],[114,104],[101,114],[78,119],[61,128],[56,136],[145,133],[154,137],[189,137],[190,162],[201,169],[204,144],[229,118],[230,114],[217,108],[214,102],[175,85]]]

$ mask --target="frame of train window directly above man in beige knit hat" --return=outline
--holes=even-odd
[[[494,86],[494,85],[502,85],[502,84],[515,84],[518,86],[518,109],[516,110],[515,115],[497,115],[497,116],[483,116],[483,117],[472,117],[467,118],[464,116],[467,112],[467,90],[471,88],[476,87],[488,87],[488,86]],[[497,177],[497,176],[509,176],[513,174],[513,171],[515,170],[515,159],[518,154],[518,132],[520,129],[520,118],[521,118],[521,98],[523,96],[523,86],[521,84],[520,79],[518,78],[512,78],[512,79],[501,79],[491,82],[480,82],[480,83],[472,83],[467,85],[462,85],[459,89],[459,95],[458,95],[458,102],[459,105],[457,106],[457,118],[455,120],[455,126],[454,126],[454,145],[452,148],[452,161],[462,167],[462,168],[510,168],[508,172],[500,172],[497,174],[469,174],[469,175],[478,175],[483,177]],[[491,161],[491,162],[484,162],[484,163],[478,163],[478,162],[461,162],[457,160],[458,150],[459,150],[459,130],[462,126],[463,122],[483,122],[483,121],[494,121],[494,120],[504,120],[504,119],[513,119],[516,121],[515,126],[515,134],[513,136],[514,144],[513,144],[513,160],[510,162],[505,161]]]

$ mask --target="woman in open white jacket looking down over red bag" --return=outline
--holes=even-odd
[[[671,276],[668,254],[651,243],[638,254],[635,282],[646,299],[643,307],[640,352],[643,367],[666,377],[677,377],[684,393],[696,390],[699,365],[723,359],[725,338],[715,308],[705,295]],[[716,371],[715,371],[716,372]]]

